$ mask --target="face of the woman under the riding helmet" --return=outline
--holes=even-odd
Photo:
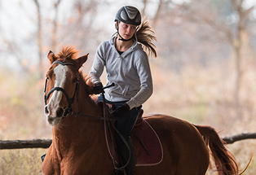
[[[126,24],[123,22],[119,22],[119,34],[121,35],[122,38],[129,40],[131,37],[134,36],[135,31],[136,31],[136,25],[132,24]]]

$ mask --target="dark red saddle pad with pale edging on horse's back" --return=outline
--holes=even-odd
[[[107,107],[107,112],[112,110],[112,105],[108,104]],[[157,133],[142,116],[143,110],[139,113],[138,120],[130,138],[135,149],[136,166],[152,166],[161,163],[161,160],[163,159],[163,149]],[[104,132],[109,155],[117,164],[121,164],[117,152],[117,144],[115,139],[113,139],[115,138],[113,137],[115,129],[109,127],[108,120],[104,120]]]

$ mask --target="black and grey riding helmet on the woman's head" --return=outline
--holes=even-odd
[[[126,24],[141,24],[141,15],[136,7],[125,6],[117,11],[115,21],[121,21]]]

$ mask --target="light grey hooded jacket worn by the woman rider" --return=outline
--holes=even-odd
[[[107,85],[114,83],[105,91],[105,98],[112,102],[128,101],[130,109],[139,107],[152,95],[152,76],[148,55],[141,44],[134,41],[124,53],[119,55],[115,48],[117,37],[102,42],[90,68],[92,82],[100,82],[99,77],[107,72]]]

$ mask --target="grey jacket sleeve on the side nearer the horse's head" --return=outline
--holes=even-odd
[[[92,82],[97,83],[100,82],[99,77],[102,75],[105,66],[105,58],[104,58],[104,42],[102,42],[95,55],[94,63],[90,68],[90,75],[92,75]]]

